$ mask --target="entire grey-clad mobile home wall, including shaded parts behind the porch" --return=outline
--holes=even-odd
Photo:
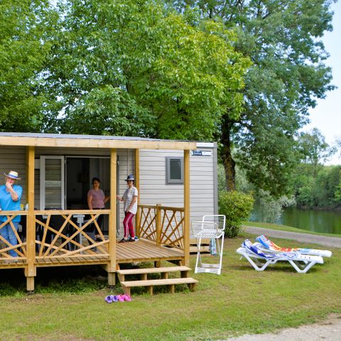
[[[197,144],[197,150],[210,151],[210,156],[190,156],[190,220],[200,220],[202,215],[217,214],[217,146]],[[83,156],[108,157],[109,149],[95,148],[36,148],[35,207],[40,206],[40,156]],[[117,149],[119,179],[117,193],[126,189],[126,176],[135,175],[135,151]],[[140,193],[139,202],[144,205],[167,205],[183,207],[183,185],[166,183],[166,157],[183,157],[182,151],[140,150]],[[1,174],[17,171],[21,176],[18,182],[23,187],[21,203],[26,203],[26,148],[3,146],[0,148]],[[96,174],[90,175],[96,176]],[[4,180],[0,181],[0,184]],[[105,184],[104,184],[105,185]],[[91,187],[91,185],[90,185]],[[123,235],[123,205],[119,204],[119,234]]]

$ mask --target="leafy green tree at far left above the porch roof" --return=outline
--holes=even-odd
[[[40,81],[51,43],[48,1],[0,3],[0,130],[40,131],[45,94]]]

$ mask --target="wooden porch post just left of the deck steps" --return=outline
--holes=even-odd
[[[117,224],[117,150],[110,151],[110,215],[109,215],[109,264],[108,284],[114,286],[116,282],[116,224]]]

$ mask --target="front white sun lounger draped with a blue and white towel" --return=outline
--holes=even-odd
[[[242,247],[237,249],[237,253],[244,256],[256,271],[264,271],[270,264],[278,261],[288,261],[293,269],[300,274],[305,274],[315,264],[323,264],[321,256],[300,254],[299,252],[270,253],[260,249],[259,244],[252,244],[246,239]]]

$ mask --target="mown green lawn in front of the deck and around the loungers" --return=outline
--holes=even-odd
[[[296,327],[341,313],[341,249],[332,249],[333,256],[308,274],[298,274],[287,264],[256,272],[235,252],[245,237],[254,238],[243,234],[226,240],[222,275],[192,274],[199,280],[194,293],[184,286],[175,294],[156,290],[154,296],[138,290],[132,293],[133,301],[125,303],[104,303],[105,296],[121,289],[106,288],[105,273],[99,268],[38,269],[36,294],[31,296],[25,294],[22,271],[1,271],[1,336],[4,340],[218,340]],[[289,243],[301,245],[278,242]],[[191,256],[192,267],[194,262]]]

